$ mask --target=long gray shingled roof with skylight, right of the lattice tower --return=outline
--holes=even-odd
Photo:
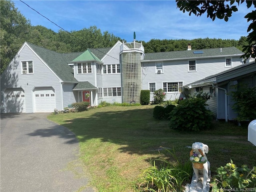
[[[203,54],[194,54],[194,51],[203,51]],[[228,56],[228,55],[242,55],[242,51],[235,47],[226,47],[215,49],[202,49],[202,50],[186,50],[186,51],[171,51],[171,52],[158,52],[158,53],[146,53],[145,60],[172,60],[182,58],[199,58],[199,57],[213,57],[213,56]],[[142,61],[143,62],[143,61]]]

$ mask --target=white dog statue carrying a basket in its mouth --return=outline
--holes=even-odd
[[[206,153],[209,152],[209,148],[207,145],[201,143],[201,142],[195,142],[192,144],[192,150],[191,152],[193,152],[195,155],[197,154],[198,157],[204,157],[206,160],[206,162],[202,165],[201,168],[196,168],[194,167],[194,163],[193,164],[193,170],[194,170],[194,174],[195,174],[195,179],[192,180],[192,183],[197,183],[198,179],[199,179],[199,174],[203,175],[203,188],[202,188],[202,192],[208,192],[207,188],[206,188],[206,184],[207,182],[210,182],[210,162],[208,162],[207,157],[206,157]],[[198,158],[197,158],[198,160]]]

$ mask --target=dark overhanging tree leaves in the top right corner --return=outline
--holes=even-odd
[[[218,19],[224,19],[226,22],[228,18],[232,16],[233,12],[238,11],[238,6],[242,3],[246,3],[247,8],[254,6],[256,8],[256,1],[252,0],[225,0],[225,1],[190,1],[190,0],[176,0],[177,7],[183,12],[189,12],[189,15],[195,14],[201,16],[205,12],[207,17],[210,17],[213,21],[217,17]],[[234,5],[236,3],[237,5]],[[247,18],[247,22],[251,22],[248,26],[247,32],[250,32],[247,36],[248,44],[243,46],[243,57],[256,58],[256,10],[249,12],[244,16]]]

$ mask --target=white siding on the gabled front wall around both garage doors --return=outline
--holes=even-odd
[[[33,61],[33,74],[22,74],[22,61]],[[34,112],[32,90],[35,87],[49,86],[52,86],[55,90],[56,108],[62,109],[60,80],[26,45],[1,75],[1,95],[5,88],[23,88],[26,113]],[[3,103],[1,100],[1,112],[4,112]]]

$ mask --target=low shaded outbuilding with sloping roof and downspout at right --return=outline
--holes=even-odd
[[[190,94],[196,91],[210,92],[208,108],[216,114],[217,119],[234,120],[237,117],[232,109],[232,91],[237,86],[256,87],[256,63],[255,60],[230,68],[229,70],[208,76],[199,81],[184,86],[190,90]]]

